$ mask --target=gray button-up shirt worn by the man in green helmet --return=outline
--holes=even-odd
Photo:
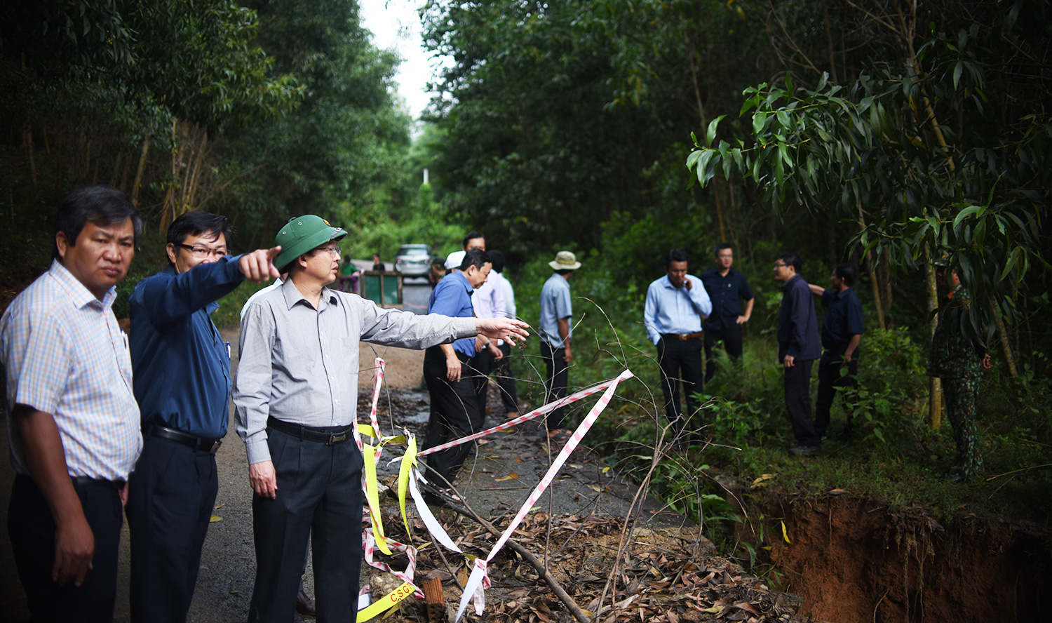
[[[474,335],[473,318],[383,309],[328,288],[315,310],[287,280],[248,304],[241,320],[234,404],[249,464],[270,460],[268,416],[302,426],[356,422],[359,341],[426,348]]]

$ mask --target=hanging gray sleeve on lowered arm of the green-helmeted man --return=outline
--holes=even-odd
[[[234,386],[236,424],[245,442],[249,465],[270,460],[266,419],[270,411],[275,330],[269,307],[250,304],[241,321],[241,359]]]

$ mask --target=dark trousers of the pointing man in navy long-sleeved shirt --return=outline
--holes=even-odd
[[[186,621],[218,490],[216,457],[159,437],[143,440],[125,508],[132,621]]]

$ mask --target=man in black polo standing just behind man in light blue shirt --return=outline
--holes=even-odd
[[[705,382],[712,380],[716,374],[716,361],[712,355],[713,346],[723,340],[731,361],[742,358],[742,324],[752,316],[752,288],[745,275],[731,268],[734,263],[734,248],[721,242],[715,252],[716,267],[699,275],[705,284],[705,289],[712,299],[712,314],[702,323],[705,329]],[[742,313],[741,301],[745,301],[745,313]]]

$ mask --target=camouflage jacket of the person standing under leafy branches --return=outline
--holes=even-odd
[[[928,375],[944,379],[978,378],[983,353],[960,331],[960,313],[971,305],[971,295],[958,284],[943,298],[938,322],[928,351]]]

